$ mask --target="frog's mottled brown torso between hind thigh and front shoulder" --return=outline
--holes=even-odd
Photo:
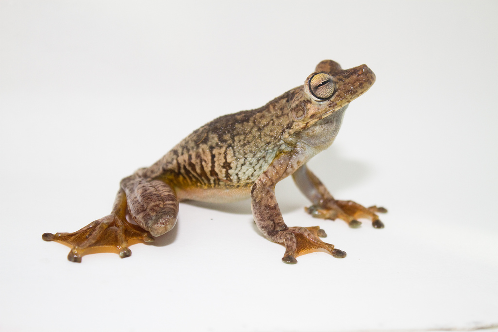
[[[214,119],[139,172],[170,184],[181,199],[245,198],[283,144],[289,121],[282,120],[271,105]],[[225,192],[227,200],[211,199]]]

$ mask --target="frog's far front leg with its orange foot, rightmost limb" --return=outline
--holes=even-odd
[[[311,207],[306,208],[306,212],[313,217],[331,220],[342,219],[353,228],[362,224],[358,219],[366,218],[372,221],[373,227],[384,227],[376,213],[386,213],[386,209],[377,208],[376,206],[365,208],[353,201],[334,199],[323,183],[306,165],[302,165],[292,174],[292,177],[301,192],[313,203]]]

